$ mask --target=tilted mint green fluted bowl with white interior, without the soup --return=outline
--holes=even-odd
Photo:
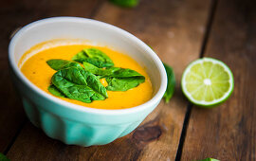
[[[129,109],[101,110],[46,94],[27,80],[18,63],[30,47],[54,39],[86,40],[128,54],[149,74],[153,98]],[[29,120],[51,138],[84,147],[107,144],[135,130],[158,105],[167,84],[165,69],[148,45],[119,27],[85,18],[47,18],[23,27],[9,44],[9,64]]]

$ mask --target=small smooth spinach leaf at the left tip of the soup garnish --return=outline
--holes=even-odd
[[[46,63],[54,70],[62,70],[64,68],[71,67],[71,66],[83,69],[79,63],[74,63],[71,61],[65,61],[65,60],[59,60],[59,59],[48,60]]]

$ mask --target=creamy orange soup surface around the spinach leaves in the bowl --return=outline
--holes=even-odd
[[[83,48],[90,47],[98,48],[106,55],[108,55],[110,59],[112,59],[112,61],[115,63],[115,66],[136,70],[138,73],[145,77],[145,82],[125,92],[107,91],[108,98],[104,100],[94,100],[92,103],[84,103],[82,101],[70,98],[61,99],[86,107],[113,110],[135,107],[152,98],[152,83],[143,67],[128,55],[119,53],[118,51],[114,51],[108,47],[90,45],[60,45],[51,47],[40,51],[28,58],[27,61],[21,66],[21,71],[28,80],[30,80],[49,95],[52,95],[48,92],[47,88],[50,84],[51,77],[54,73],[56,73],[56,71],[50,68],[46,61],[50,59],[63,59],[71,61],[71,58],[80,52]],[[33,47],[28,50],[27,53],[25,53],[25,56],[30,53],[31,50],[33,50]],[[23,61],[23,58],[21,59],[21,62]],[[101,83],[104,86],[107,85],[107,82],[104,79],[101,79]]]

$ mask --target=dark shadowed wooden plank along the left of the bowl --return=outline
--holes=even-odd
[[[11,140],[27,120],[9,78],[9,35],[16,27],[45,17],[77,15],[90,17],[98,2],[84,0],[3,1],[0,10],[0,152],[8,151]]]

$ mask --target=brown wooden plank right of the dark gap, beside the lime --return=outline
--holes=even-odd
[[[219,1],[205,53],[227,63],[234,91],[214,109],[192,107],[182,160],[256,160],[256,3]]]

